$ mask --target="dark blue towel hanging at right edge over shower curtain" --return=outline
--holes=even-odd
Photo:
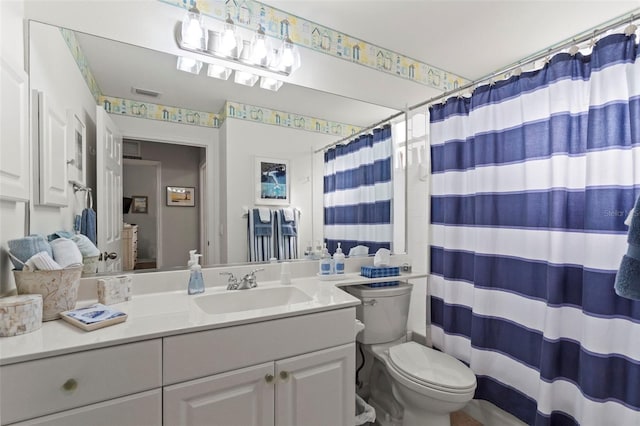
[[[636,201],[627,235],[627,254],[622,257],[614,289],[618,296],[640,300],[640,197]]]

